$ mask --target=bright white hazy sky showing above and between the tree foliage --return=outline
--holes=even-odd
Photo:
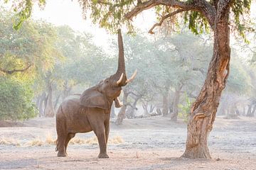
[[[91,23],[90,18],[82,18],[82,9],[78,1],[71,0],[48,0],[46,7],[40,10],[38,6],[33,8],[32,18],[43,19],[57,26],[68,25],[74,30],[86,30],[95,35],[97,45],[107,47],[109,44],[107,32],[104,28],[99,28]],[[150,19],[145,19],[150,18]],[[139,25],[142,31],[147,32],[154,25],[154,13],[145,11],[134,20],[135,25]],[[143,25],[141,24],[143,23]]]

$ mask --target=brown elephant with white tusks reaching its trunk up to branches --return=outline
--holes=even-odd
[[[66,157],[68,142],[78,132],[93,130],[100,145],[98,158],[109,158],[107,155],[107,140],[110,132],[110,110],[114,101],[115,107],[122,106],[118,96],[122,86],[131,82],[137,70],[127,79],[124,64],[124,47],[121,30],[118,30],[118,67],[112,76],[90,87],[82,94],[69,96],[60,104],[56,113],[57,140],[55,151],[58,157]]]

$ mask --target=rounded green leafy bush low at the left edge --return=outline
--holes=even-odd
[[[23,120],[37,115],[31,89],[14,79],[0,77],[0,120]]]

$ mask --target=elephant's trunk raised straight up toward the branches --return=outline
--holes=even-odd
[[[119,82],[119,86],[125,86],[127,84],[127,75],[125,72],[125,63],[124,63],[124,44],[122,40],[122,33],[121,29],[118,30],[118,49],[119,49],[119,56],[118,56],[118,67],[117,72],[114,74],[114,77],[117,77],[117,80],[122,77],[122,80]],[[123,76],[122,76],[123,74]]]

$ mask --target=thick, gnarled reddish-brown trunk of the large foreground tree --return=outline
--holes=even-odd
[[[218,8],[223,6],[218,6]],[[214,26],[213,57],[210,61],[206,81],[191,107],[188,122],[186,150],[182,157],[210,159],[208,136],[213,128],[215,114],[225,88],[230,63],[229,8],[216,11]]]

